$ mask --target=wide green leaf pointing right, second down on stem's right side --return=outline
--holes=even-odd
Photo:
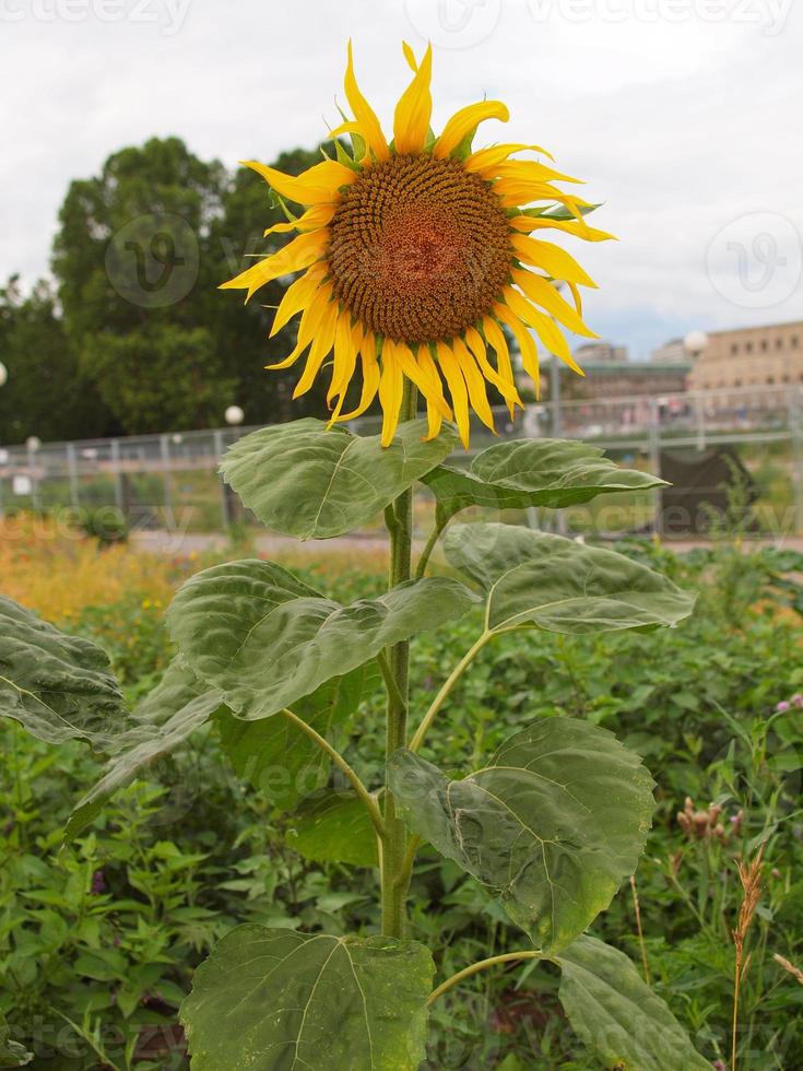
[[[485,591],[491,631],[651,629],[676,624],[694,607],[671,580],[615,551],[517,525],[458,525],[445,550]]]

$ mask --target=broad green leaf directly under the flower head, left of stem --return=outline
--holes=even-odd
[[[246,435],[221,464],[226,483],[274,531],[329,539],[366,523],[457,446],[445,427],[424,443],[426,421],[401,424],[392,444],[305,419]]]

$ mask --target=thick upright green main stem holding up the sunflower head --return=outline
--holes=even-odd
[[[415,419],[417,392],[412,382],[404,380],[401,421]],[[403,584],[412,576],[413,551],[413,491],[412,487],[386,510],[386,523],[390,533],[390,570],[388,589]],[[380,666],[382,662],[380,660]],[[389,672],[387,672],[389,671]],[[388,717],[385,756],[403,748],[408,737],[408,697],[410,676],[410,644],[394,644],[387,651],[387,671],[392,678],[388,686]],[[395,811],[390,786],[385,785],[385,843],[382,845],[382,933],[385,937],[404,937],[406,922],[406,885],[400,881],[406,859],[406,827]]]

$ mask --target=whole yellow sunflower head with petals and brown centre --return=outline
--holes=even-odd
[[[293,397],[309,390],[332,354],[332,422],[354,420],[378,395],[387,446],[408,379],[426,399],[427,437],[438,434],[442,420],[454,420],[468,447],[470,409],[494,429],[487,384],[511,416],[522,407],[509,339],[538,392],[532,332],[580,375],[558,323],[598,337],[582,321],[579,291],[595,284],[566,250],[535,235],[554,229],[590,242],[611,235],[587,224],[584,214],[595,205],[555,185],[578,179],[541,160],[520,158],[534,152],[552,161],[543,149],[472,149],[480,122],[507,121],[499,101],[461,108],[436,138],[429,127],[432,47],[420,63],[409,45],[404,55],[413,79],[397,105],[391,142],[359,91],[350,44],[345,96],[353,118],[344,116],[331,131],[336,158],[298,176],[244,161],[287,216],[265,237],[298,233],[223,289],[245,290],[248,301],[271,280],[303,272],[287,287],[271,330],[275,334],[300,314],[296,345],[268,365],[287,368],[306,353]],[[339,140],[346,134],[351,153]],[[300,205],[300,213],[286,202]],[[559,293],[564,284],[571,303]],[[357,364],[361,397],[343,412]]]

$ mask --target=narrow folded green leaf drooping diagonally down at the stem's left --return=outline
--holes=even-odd
[[[184,743],[222,702],[219,691],[201,684],[180,658],[174,658],[161,683],[133,711],[131,728],[122,738],[122,750],[70,815],[64,840],[72,840],[85,829],[115,792],[139,777],[156,758]]]

